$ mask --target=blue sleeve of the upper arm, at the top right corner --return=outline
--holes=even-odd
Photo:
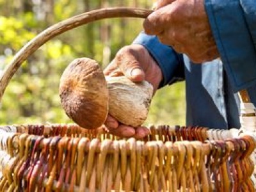
[[[212,33],[235,92],[256,84],[256,1],[205,0]]]

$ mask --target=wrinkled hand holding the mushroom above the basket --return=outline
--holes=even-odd
[[[134,82],[148,81],[156,92],[163,79],[161,69],[142,45],[123,47],[104,70],[105,76],[126,76]],[[121,137],[143,138],[149,134],[146,127],[130,127],[120,124],[111,115],[105,122],[109,133]]]

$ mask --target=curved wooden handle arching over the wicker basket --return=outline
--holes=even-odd
[[[24,45],[17,54],[13,57],[10,64],[4,68],[3,74],[0,76],[0,101],[3,97],[6,86],[12,79],[15,72],[18,70],[20,65],[35,52],[39,47],[45,44],[45,42],[54,38],[54,36],[60,35],[65,31],[77,28],[84,24],[94,22],[96,20],[108,19],[114,17],[138,17],[146,18],[152,10],[145,10],[140,8],[104,8],[100,10],[93,10],[92,12],[82,13],[69,19],[63,20],[54,24],[53,26],[45,29],[41,33],[35,36],[28,44]],[[246,90],[240,92],[242,102],[250,102]]]

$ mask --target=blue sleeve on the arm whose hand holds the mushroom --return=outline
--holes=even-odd
[[[184,80],[182,54],[177,54],[171,47],[161,44],[156,36],[149,36],[143,32],[136,37],[133,44],[143,45],[161,68],[163,81],[159,88]]]

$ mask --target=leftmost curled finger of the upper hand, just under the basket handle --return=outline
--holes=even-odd
[[[159,35],[164,31],[165,17],[163,17],[163,10],[161,8],[148,15],[147,19],[143,22],[143,28],[147,35]]]

